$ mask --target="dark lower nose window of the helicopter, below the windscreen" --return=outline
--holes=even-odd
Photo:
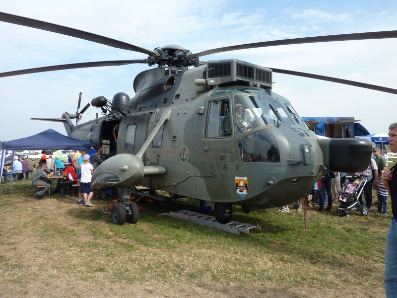
[[[268,128],[242,138],[238,146],[243,162],[280,161],[280,149],[273,133]]]

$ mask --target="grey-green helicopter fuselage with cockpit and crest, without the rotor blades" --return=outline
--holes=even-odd
[[[233,73],[231,68],[226,72]],[[124,106],[116,102],[124,113],[112,111],[78,126],[69,120],[65,127],[73,138],[110,144],[117,154],[136,155],[168,111],[169,119],[157,127],[150,146],[139,155],[145,167],[161,167],[165,173],[142,174],[139,185],[240,205],[246,211],[282,206],[302,198],[327,171],[332,161],[323,151],[331,141],[319,142],[289,101],[272,92],[271,70],[261,71],[266,72],[261,78],[269,77],[258,82],[247,70],[243,77],[225,79],[224,71],[217,70],[218,78],[207,78],[211,74],[207,65],[147,70],[134,80],[136,95],[124,99]],[[238,105],[242,115],[236,112]],[[117,144],[112,146],[112,129],[118,123]],[[355,155],[368,155],[367,147],[358,146]],[[95,172],[113,173],[119,160],[111,157]],[[353,167],[362,168],[362,161]],[[97,176],[94,173],[93,181]]]

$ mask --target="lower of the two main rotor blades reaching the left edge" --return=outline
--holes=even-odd
[[[38,67],[27,70],[0,73],[0,77],[20,75],[20,74],[35,74],[35,73],[44,73],[51,71],[71,70],[71,69],[86,68],[86,67],[118,66],[118,65],[135,64],[135,63],[146,63],[146,59],[97,61],[97,62],[83,62],[83,63],[54,65],[54,66]]]

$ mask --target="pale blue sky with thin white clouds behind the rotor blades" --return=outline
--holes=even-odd
[[[192,53],[245,43],[289,38],[397,30],[395,0],[18,0],[0,11],[84,30],[153,50],[168,44]],[[146,54],[61,34],[0,22],[0,73],[79,62],[145,59]],[[236,58],[263,67],[322,74],[397,88],[397,39],[303,44],[239,50],[201,57]],[[134,96],[134,77],[147,65],[25,74],[0,78],[0,140],[28,137],[62,123],[61,118],[92,98]],[[388,133],[397,122],[397,95],[316,79],[273,74],[273,91],[301,117],[354,117],[371,134]],[[101,111],[90,107],[81,122]]]

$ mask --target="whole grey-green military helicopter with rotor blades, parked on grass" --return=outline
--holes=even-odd
[[[302,43],[396,38],[397,31],[267,41],[193,54],[178,45],[152,50],[104,36],[0,12],[0,21],[47,30],[148,55],[139,60],[76,63],[1,73],[0,77],[73,68],[144,63],[135,96],[99,96],[91,105],[102,116],[73,125],[77,113],[61,118],[67,135],[115,154],[94,171],[91,189],[117,187],[114,224],[135,224],[131,196],[165,202],[182,197],[210,201],[215,218],[228,223],[232,206],[249,213],[302,198],[327,170],[354,172],[368,166],[372,145],[362,139],[319,139],[291,103],[272,90],[272,73],[291,74],[397,94],[396,89],[317,74],[266,68],[237,59],[200,61],[205,55]],[[77,119],[76,119],[77,120]],[[116,128],[116,129],[115,129]],[[116,139],[113,135],[115,130]],[[112,154],[111,154],[112,155]],[[140,190],[136,186],[146,189]],[[165,191],[170,196],[161,196]]]

